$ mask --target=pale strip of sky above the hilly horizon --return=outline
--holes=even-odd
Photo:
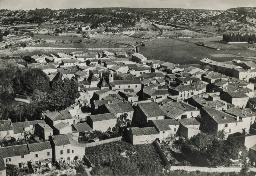
[[[0,0],[0,9],[145,7],[227,10],[253,7],[256,0]]]

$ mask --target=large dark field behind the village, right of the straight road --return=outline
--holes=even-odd
[[[216,61],[252,60],[256,51],[244,48],[215,50],[178,39],[153,39],[139,46],[139,52],[148,59],[163,60],[177,64],[196,64],[203,58]]]

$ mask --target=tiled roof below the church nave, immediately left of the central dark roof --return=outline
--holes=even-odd
[[[132,105],[129,102],[119,102],[119,103],[111,103],[105,104],[108,111],[111,113],[123,113],[134,111]]]

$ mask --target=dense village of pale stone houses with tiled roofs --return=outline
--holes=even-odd
[[[30,59],[36,63],[26,67],[42,70],[52,82],[75,81],[80,96],[65,110],[44,112],[41,120],[1,120],[1,140],[31,134],[37,138],[36,143],[1,146],[1,176],[6,175],[6,164],[24,168],[29,162],[36,169],[59,163],[67,168],[83,160],[91,167],[84,151],[122,136],[107,141],[95,137],[86,143],[80,138],[95,130],[112,131],[117,124],[132,145],[161,146],[186,141],[201,131],[222,131],[225,139],[242,141],[249,151],[247,163],[255,165],[256,84],[249,79],[255,78],[256,64],[252,61],[204,58],[200,64],[180,65],[118,51],[74,51]],[[23,96],[16,100],[30,102]],[[162,157],[168,164],[168,157]]]

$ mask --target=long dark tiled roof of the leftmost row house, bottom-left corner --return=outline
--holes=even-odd
[[[1,147],[0,148],[3,158],[9,158],[14,156],[21,156],[21,155],[28,155],[28,145],[13,145],[8,147]]]

